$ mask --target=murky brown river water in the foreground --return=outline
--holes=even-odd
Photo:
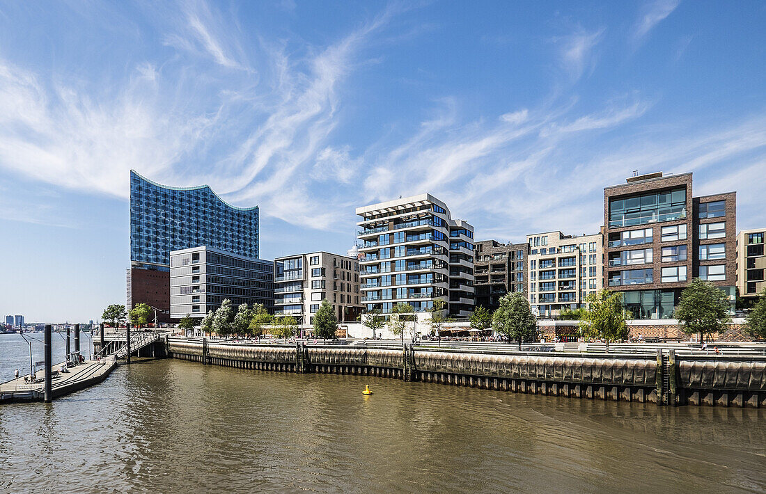
[[[264,491],[766,492],[766,413],[170,359],[0,405],[0,492]]]

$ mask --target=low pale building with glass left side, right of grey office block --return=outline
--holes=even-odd
[[[329,252],[277,257],[273,276],[274,314],[295,316],[303,332],[313,327],[322,300],[332,304],[339,322],[355,321],[362,312],[355,257]]]

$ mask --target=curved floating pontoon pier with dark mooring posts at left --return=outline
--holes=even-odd
[[[68,368],[66,373],[61,373],[63,365],[64,362],[59,362],[53,366],[51,391],[54,398],[100,383],[114,370],[117,361],[114,356],[101,360],[86,360]],[[34,380],[31,381],[29,375],[19,376],[18,379],[0,384],[0,404],[12,401],[43,401],[43,387],[43,369],[37,371]]]

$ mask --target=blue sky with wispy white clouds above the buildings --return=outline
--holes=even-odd
[[[763,2],[3,2],[0,312],[124,303],[129,169],[345,252],[428,191],[476,238],[593,233],[633,170],[766,226]]]

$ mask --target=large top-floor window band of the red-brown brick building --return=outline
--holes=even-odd
[[[609,201],[610,227],[629,227],[681,218],[686,218],[685,188]]]

